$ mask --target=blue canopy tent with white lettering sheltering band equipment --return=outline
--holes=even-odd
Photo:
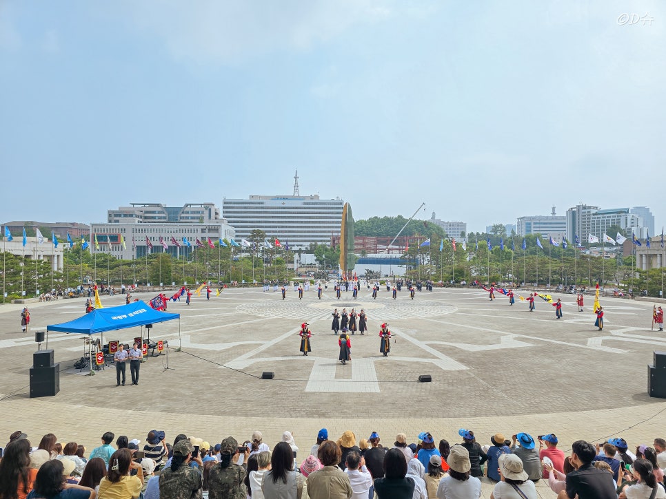
[[[46,347],[48,348],[49,331],[74,332],[88,336],[99,333],[100,344],[103,344],[102,334],[105,331],[135,328],[173,319],[179,319],[178,337],[180,339],[180,318],[180,314],[154,310],[144,301],[133,301],[128,305],[118,307],[96,308],[73,321],[46,326]],[[143,331],[141,337],[143,337]]]

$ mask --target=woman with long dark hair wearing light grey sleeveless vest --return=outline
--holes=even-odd
[[[291,445],[279,442],[270,457],[270,471],[263,477],[261,490],[265,499],[301,499],[305,478],[294,469]]]

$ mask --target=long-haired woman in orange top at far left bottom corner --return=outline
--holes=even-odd
[[[30,442],[13,440],[0,460],[0,499],[26,499],[32,490],[37,469],[30,467]]]

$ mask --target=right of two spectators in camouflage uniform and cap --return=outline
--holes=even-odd
[[[239,458],[238,441],[228,436],[222,440],[220,447],[220,463],[215,465],[208,474],[208,497],[210,499],[245,499],[248,493],[245,487],[245,468],[236,464]],[[291,454],[290,454],[291,456]],[[250,449],[245,447],[244,462],[250,458]],[[163,499],[160,496],[160,499]]]

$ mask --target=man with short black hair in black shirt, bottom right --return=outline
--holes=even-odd
[[[596,455],[594,445],[584,440],[576,440],[572,445],[571,462],[576,468],[567,474],[565,490],[558,493],[558,499],[616,499],[617,493],[607,471],[592,466]]]

